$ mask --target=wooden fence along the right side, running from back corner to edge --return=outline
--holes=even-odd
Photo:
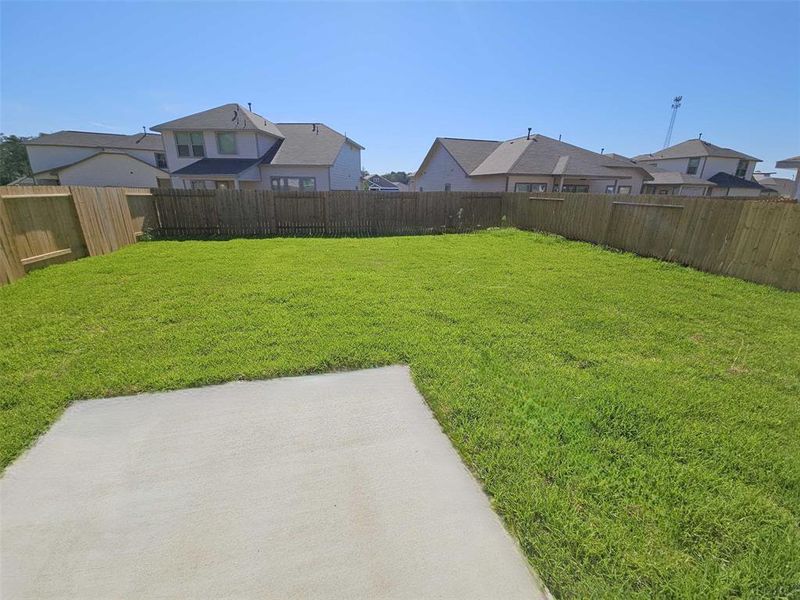
[[[520,229],[800,290],[800,204],[728,198],[538,194],[510,204]]]

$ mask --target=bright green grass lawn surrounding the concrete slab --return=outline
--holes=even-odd
[[[0,315],[3,465],[73,400],[408,363],[556,596],[800,594],[800,294],[501,230],[140,243]]]

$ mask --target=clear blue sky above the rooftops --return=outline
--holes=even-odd
[[[133,133],[227,102],[319,121],[370,172],[436,136],[800,154],[800,3],[0,2],[0,129]],[[783,174],[786,174],[784,172]]]

